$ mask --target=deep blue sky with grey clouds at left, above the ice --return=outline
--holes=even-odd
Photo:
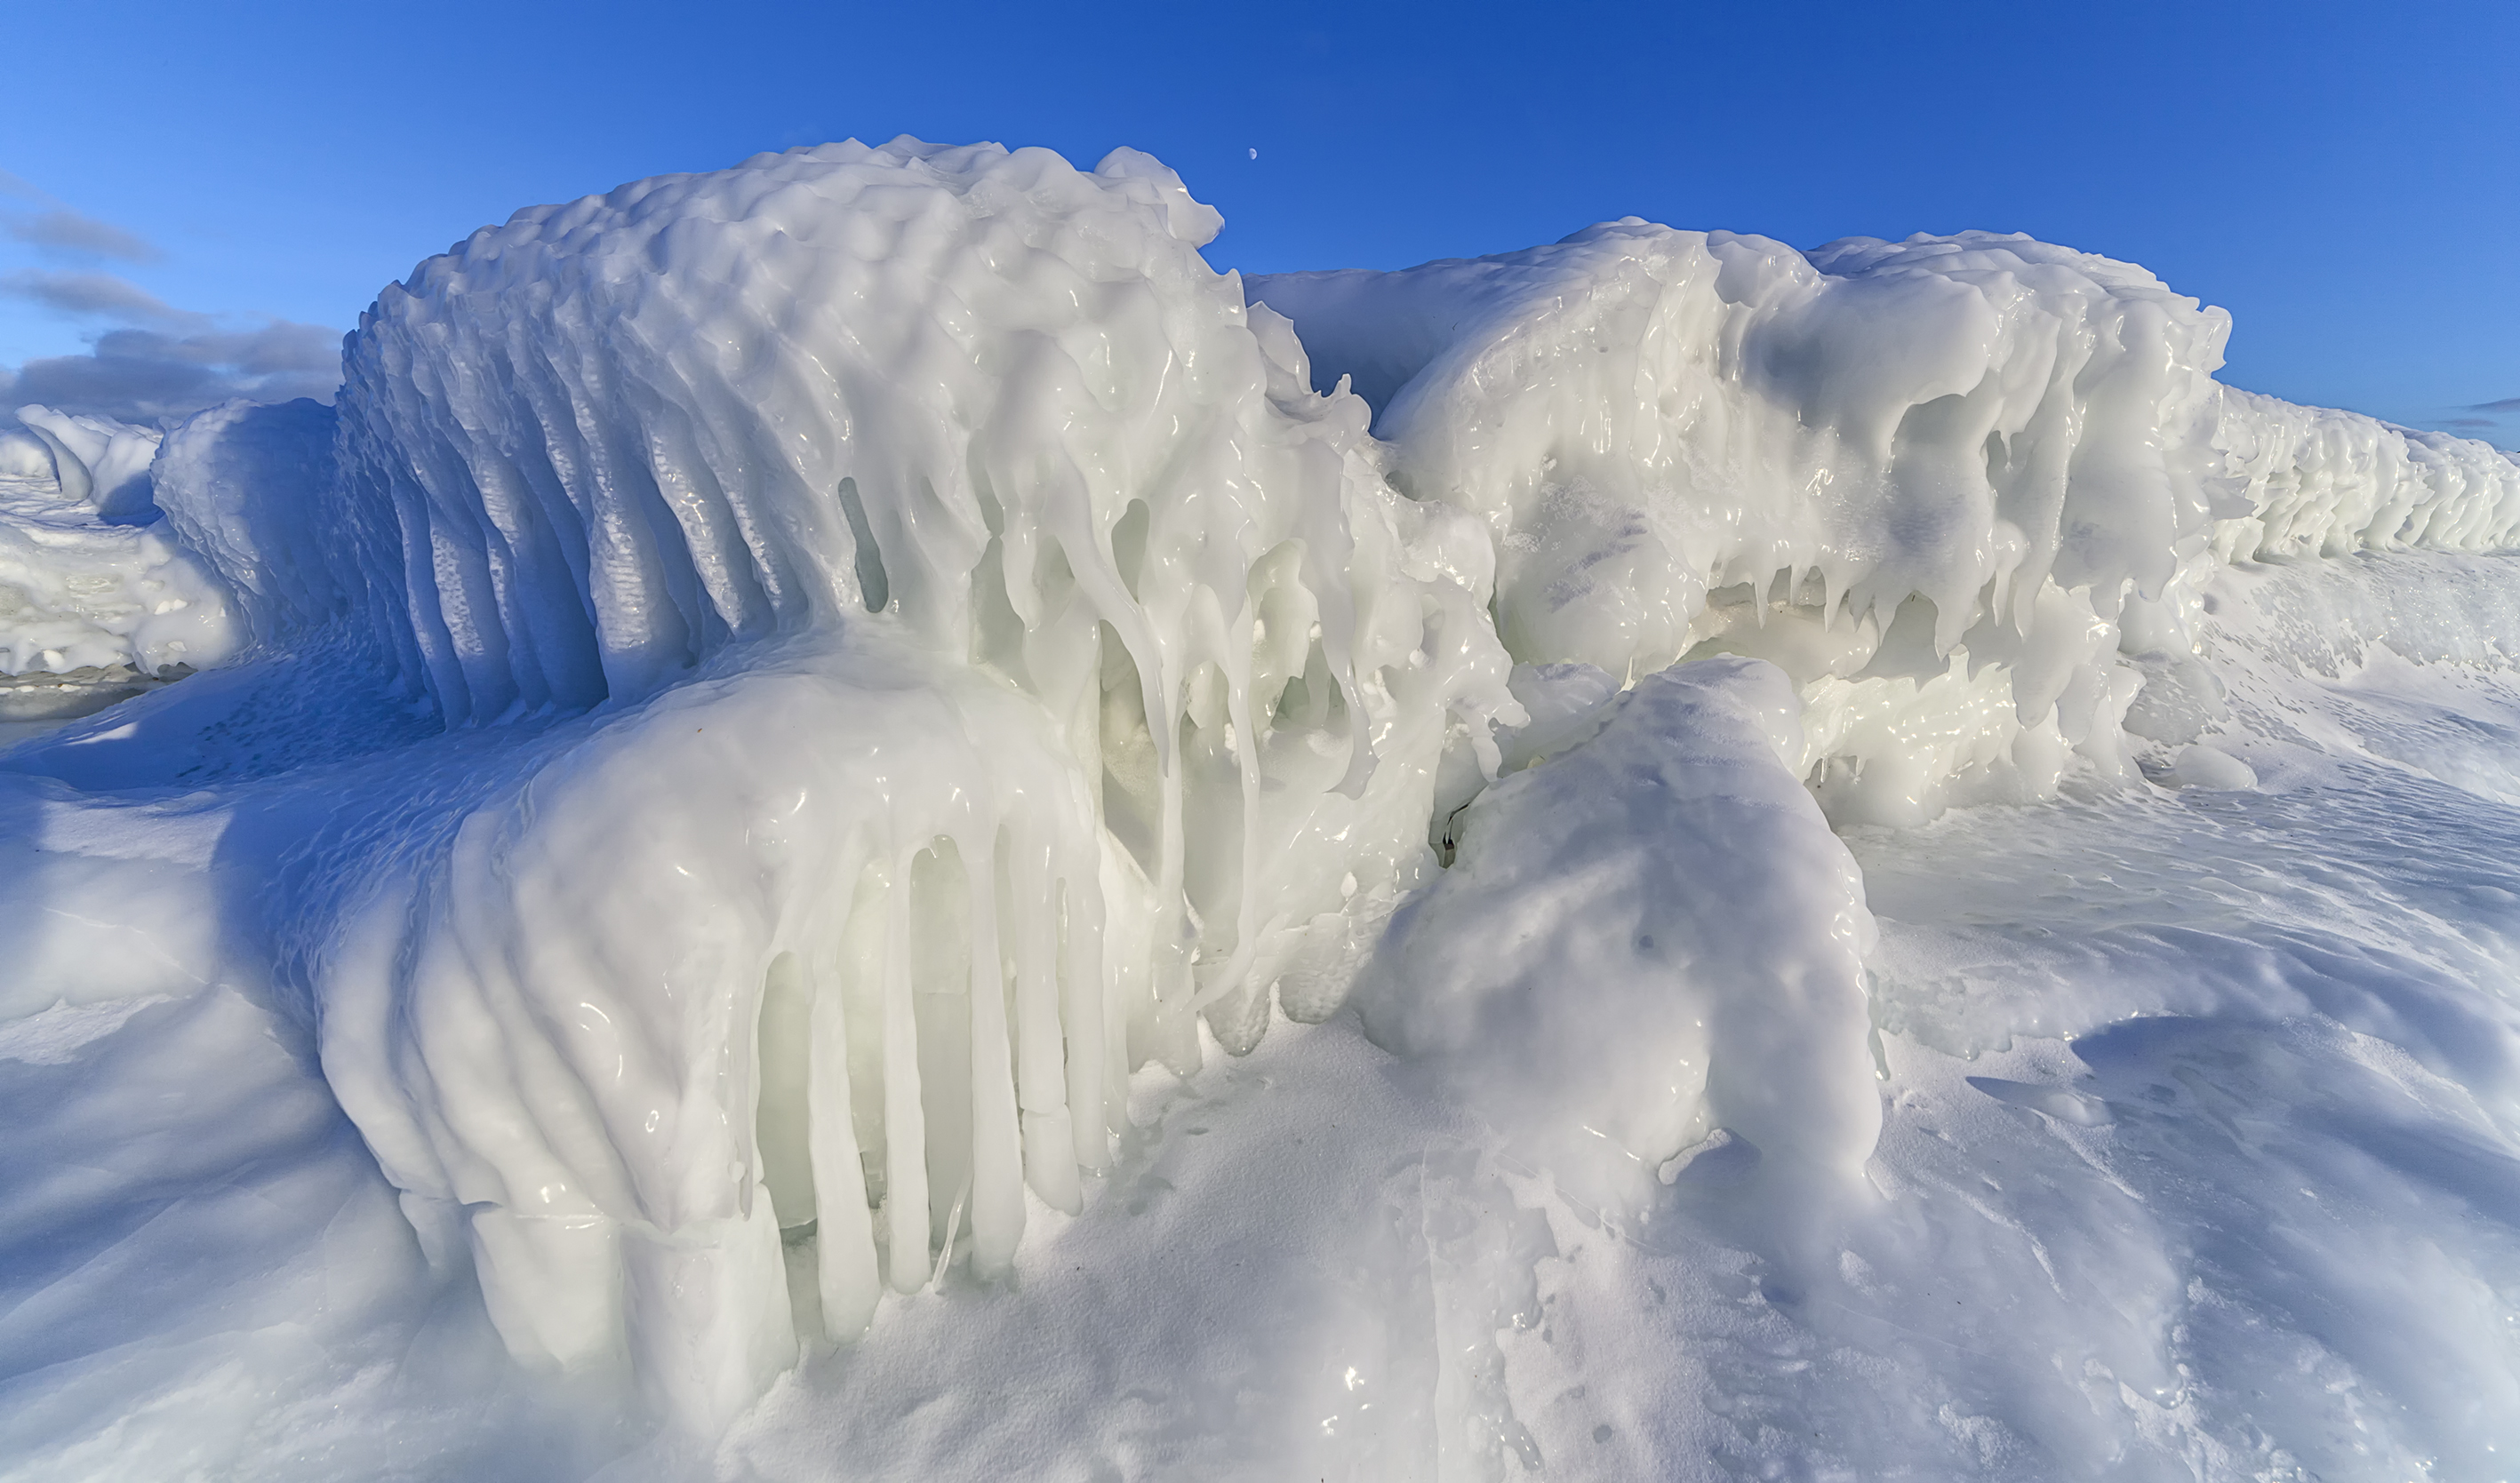
[[[2228,307],[2235,385],[2520,446],[2510,0],[55,0],[8,48],[20,395],[297,393],[378,287],[517,206],[917,133],[1147,149],[1245,272],[1623,214],[1797,247],[2031,232]]]

